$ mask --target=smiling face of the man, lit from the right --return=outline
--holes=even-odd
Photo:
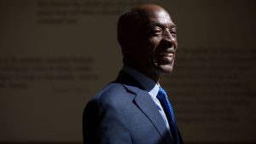
[[[137,64],[143,72],[160,74],[172,72],[177,50],[177,28],[164,9],[147,13],[148,22],[138,30],[136,40]]]

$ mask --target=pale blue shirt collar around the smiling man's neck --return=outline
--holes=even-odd
[[[148,91],[148,94],[156,97],[159,91],[159,84],[154,83],[151,78],[148,78],[143,73],[138,72],[137,70],[131,68],[130,66],[123,66],[123,72],[126,72],[131,78],[137,80],[139,84],[143,86],[144,89]]]

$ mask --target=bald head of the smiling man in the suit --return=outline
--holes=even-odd
[[[150,78],[172,72],[177,49],[177,28],[165,9],[143,4],[119,18],[118,40],[125,65]]]

